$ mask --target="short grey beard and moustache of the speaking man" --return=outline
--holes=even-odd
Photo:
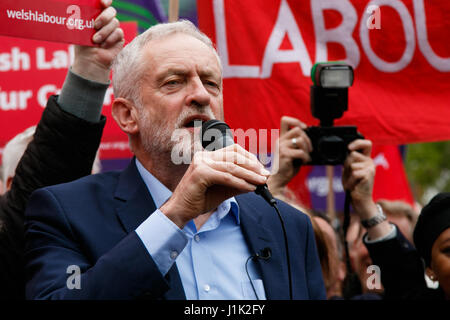
[[[190,131],[184,127],[185,120],[191,115],[215,116],[211,108],[191,108],[181,112],[173,127],[152,121],[144,108],[139,109],[139,133],[144,150],[150,158],[170,161],[174,165],[190,164],[195,152],[203,150],[198,130]],[[201,127],[201,122],[196,123]]]

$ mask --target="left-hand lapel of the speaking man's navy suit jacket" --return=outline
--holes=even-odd
[[[119,200],[116,207],[117,217],[127,233],[136,230],[156,210],[153,198],[137,170],[135,158],[120,175],[114,197]],[[176,263],[170,268],[165,278],[170,284],[165,298],[186,299]]]

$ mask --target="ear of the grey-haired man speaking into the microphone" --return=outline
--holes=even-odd
[[[130,100],[124,98],[115,99],[111,107],[111,113],[123,132],[131,135],[139,132],[137,108]]]

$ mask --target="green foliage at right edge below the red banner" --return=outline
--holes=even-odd
[[[414,196],[422,205],[438,192],[449,192],[450,141],[408,145],[405,170]]]

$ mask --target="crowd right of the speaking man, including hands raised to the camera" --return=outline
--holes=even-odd
[[[348,230],[343,235],[342,227],[333,228],[336,224],[326,214],[305,209],[288,188],[288,183],[300,169],[294,159],[304,163],[310,160],[311,141],[304,132],[306,125],[298,119],[283,117],[280,128],[279,154],[275,157],[279,162],[275,164],[278,172],[271,175],[267,183],[274,195],[300,208],[315,222],[319,252],[321,248],[325,248],[322,252],[328,252],[319,254],[327,297],[448,299],[450,269],[449,260],[444,257],[448,249],[445,243],[449,241],[446,230],[449,228],[450,193],[436,195],[420,214],[403,201],[379,200],[375,203],[371,142],[355,140],[349,144],[342,175],[342,184],[350,192],[354,208]],[[342,221],[337,225],[342,226]],[[345,257],[345,244],[348,245],[348,257]],[[423,250],[427,252],[427,259]],[[439,263],[431,263],[432,251]],[[379,268],[379,274],[375,275],[379,279],[372,277],[371,266]],[[438,285],[433,286],[433,282]]]

